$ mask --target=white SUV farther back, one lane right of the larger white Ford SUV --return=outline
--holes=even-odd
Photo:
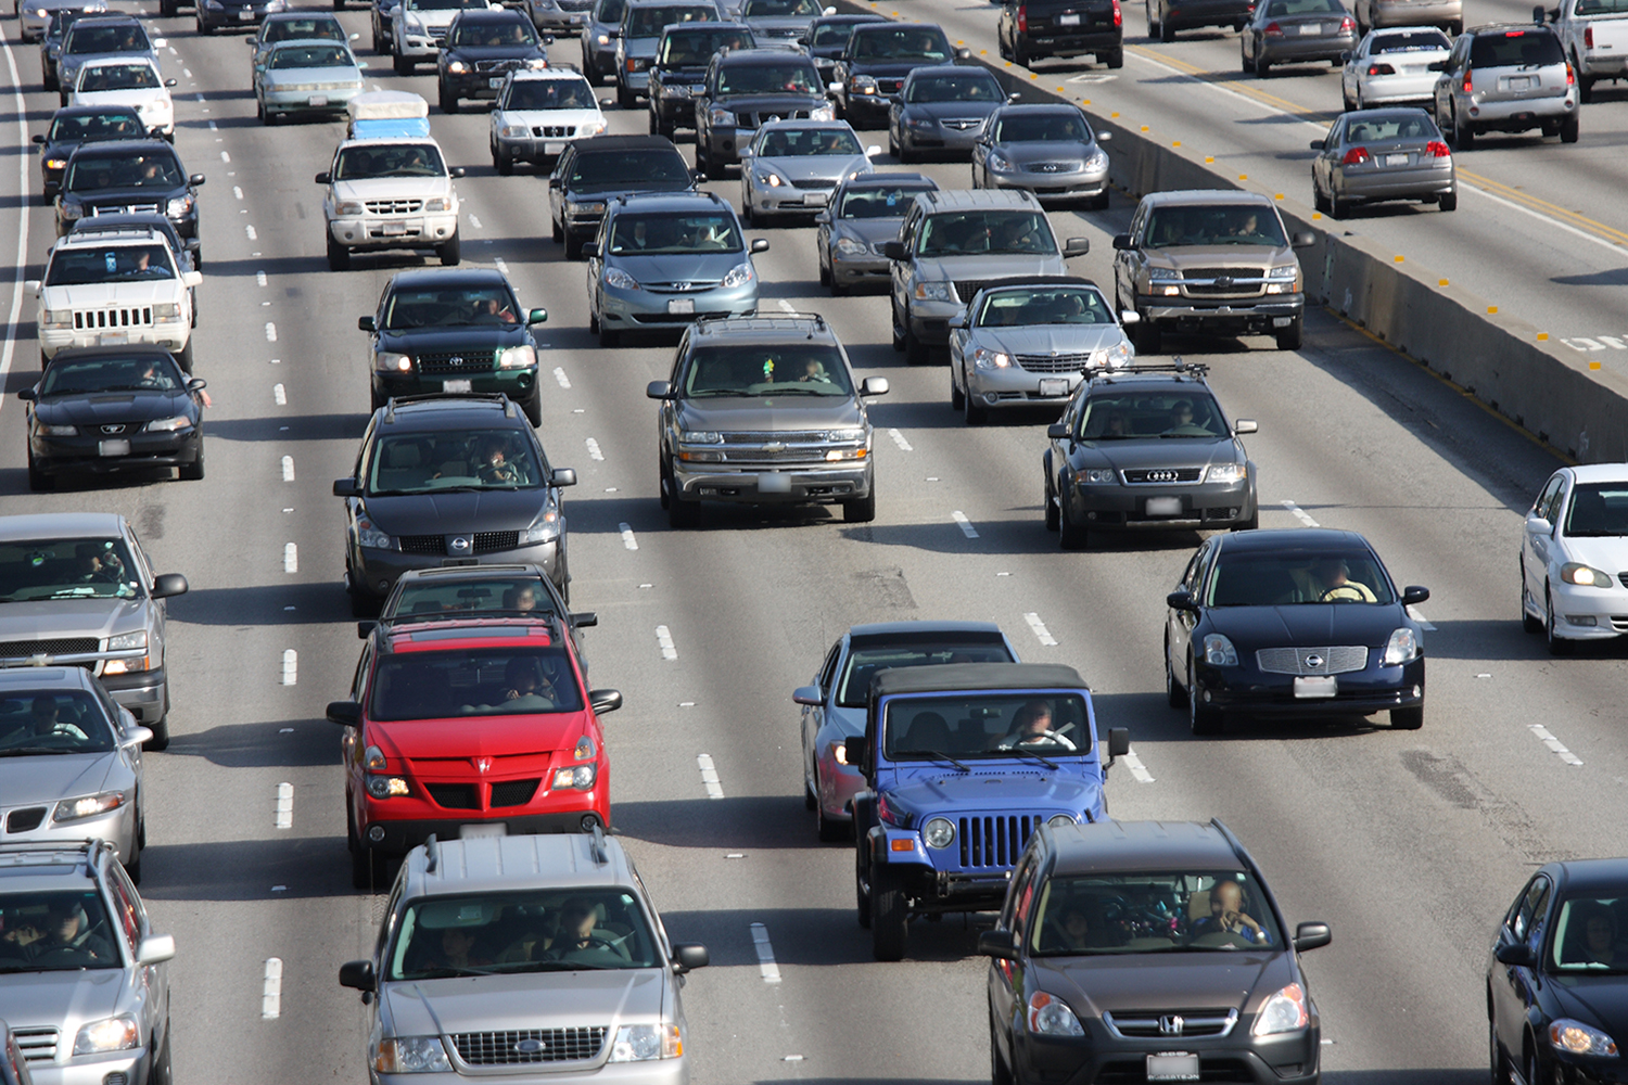
[[[492,168],[505,177],[514,163],[552,169],[571,140],[604,130],[594,88],[580,72],[510,72],[492,109]]]

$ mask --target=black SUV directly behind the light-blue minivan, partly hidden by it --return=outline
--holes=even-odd
[[[606,207],[641,192],[695,192],[695,174],[679,148],[659,135],[599,135],[571,140],[549,176],[549,218],[565,259],[580,260],[599,234]]]

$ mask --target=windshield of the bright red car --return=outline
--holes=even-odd
[[[443,651],[379,656],[368,696],[368,717],[386,722],[583,709],[562,649],[457,647],[453,641]]]

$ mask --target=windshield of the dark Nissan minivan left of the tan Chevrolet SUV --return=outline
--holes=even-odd
[[[371,468],[371,495],[536,490],[544,483],[537,452],[514,429],[386,436],[373,451]]]

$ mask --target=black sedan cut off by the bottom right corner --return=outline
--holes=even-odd
[[[1623,1080],[1628,859],[1551,862],[1498,926],[1486,963],[1493,1082]]]

